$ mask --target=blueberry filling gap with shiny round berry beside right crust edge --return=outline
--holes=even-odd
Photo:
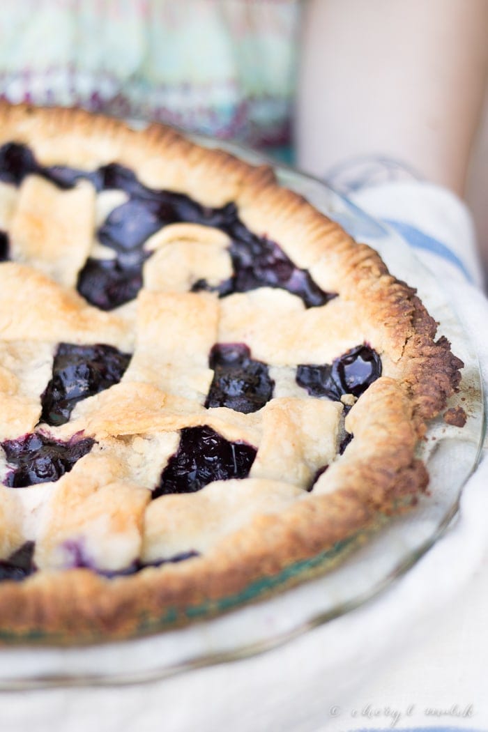
[[[296,383],[312,397],[339,401],[344,394],[360,397],[381,376],[380,356],[369,346],[356,346],[331,364],[300,365]]]

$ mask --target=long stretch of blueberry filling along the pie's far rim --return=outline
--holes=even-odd
[[[205,280],[198,280],[193,291],[217,289],[220,296],[225,296],[258,287],[283,288],[301,297],[307,307],[325,305],[335,296],[323,292],[307,270],[296,267],[278,244],[266,236],[252,234],[239,220],[234,203],[214,209],[202,206],[182,193],[152,190],[140,183],[129,168],[117,163],[104,165],[96,171],[81,171],[66,165],[43,166],[24,145],[7,143],[1,146],[1,180],[19,185],[30,173],[36,173],[64,190],[87,179],[97,191],[123,190],[129,196],[129,201],[114,209],[98,232],[100,242],[116,251],[115,261],[106,264],[89,259],[78,280],[80,294],[102,310],[112,310],[134,299],[142,286],[142,268],[149,256],[143,252],[144,242],[163,226],[177,222],[213,226],[230,237],[233,276],[217,288]],[[132,253],[129,261],[120,256],[127,252]],[[91,283],[92,277],[96,286]]]

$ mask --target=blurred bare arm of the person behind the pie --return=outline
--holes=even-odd
[[[488,69],[488,0],[309,0],[299,165],[390,157],[465,193]],[[330,143],[333,141],[333,143]]]

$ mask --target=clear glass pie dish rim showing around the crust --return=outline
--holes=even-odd
[[[225,147],[250,163],[267,162],[238,146],[200,137],[196,141]],[[455,518],[462,486],[478,461],[484,411],[476,352],[462,332],[448,297],[389,228],[315,179],[279,165],[275,172],[280,184],[304,195],[355,239],[378,250],[393,275],[418,288],[429,312],[440,323],[439,332],[448,337],[454,354],[465,363],[459,392],[450,405],[462,406],[468,414],[465,427],[448,425],[442,417],[431,422],[418,455],[427,464],[429,493],[419,499],[413,511],[388,521],[364,545],[346,540],[334,552],[302,561],[249,586],[241,595],[225,598],[219,610],[230,612],[223,616],[205,619],[206,610],[200,608],[203,621],[181,630],[84,649],[37,648],[35,653],[26,647],[2,649],[0,689],[133,684],[266,651],[377,594],[422,556]],[[320,567],[336,563],[326,575],[309,580]],[[285,590],[291,574],[308,581]],[[260,600],[271,589],[281,588],[284,591],[271,599]],[[249,600],[257,602],[239,607]],[[121,672],[121,668],[129,671]]]

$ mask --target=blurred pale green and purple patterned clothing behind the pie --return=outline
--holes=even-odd
[[[298,0],[2,0],[0,95],[288,143]]]

